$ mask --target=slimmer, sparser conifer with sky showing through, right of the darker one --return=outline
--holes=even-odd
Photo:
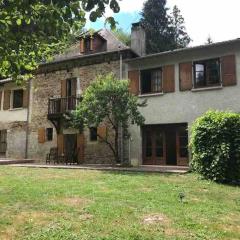
[[[177,49],[187,47],[191,41],[191,38],[186,32],[186,27],[184,26],[184,18],[176,5],[173,7],[173,11],[170,15],[170,28],[173,38],[172,48]]]

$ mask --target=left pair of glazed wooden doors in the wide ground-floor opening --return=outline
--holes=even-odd
[[[143,164],[162,165],[166,162],[165,134],[159,128],[143,129]]]

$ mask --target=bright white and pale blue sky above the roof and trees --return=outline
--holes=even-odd
[[[140,19],[145,0],[120,1],[120,13],[112,14],[107,10],[106,16],[114,16],[118,27],[131,30],[131,24]],[[211,36],[214,42],[240,38],[240,1],[239,0],[167,0],[167,6],[177,5],[185,19],[185,26],[191,39],[190,45],[204,44]],[[86,28],[100,29],[104,20],[89,23]]]

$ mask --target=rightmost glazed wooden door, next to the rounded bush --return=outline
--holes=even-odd
[[[188,165],[188,131],[186,126],[178,127],[176,131],[177,165]]]

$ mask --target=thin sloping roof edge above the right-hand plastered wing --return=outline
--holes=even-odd
[[[148,58],[158,57],[158,56],[167,56],[167,55],[171,55],[174,53],[182,53],[182,52],[188,52],[188,51],[193,51],[193,50],[198,50],[198,49],[207,49],[207,48],[213,48],[213,47],[218,47],[218,46],[230,45],[230,44],[238,43],[238,42],[240,43],[240,38],[232,39],[232,40],[228,40],[228,41],[211,43],[211,44],[207,44],[207,45],[199,45],[199,46],[194,46],[194,47],[180,48],[180,49],[170,50],[170,51],[166,51],[166,52],[149,54],[149,55],[137,57],[134,59],[126,60],[126,62],[133,62],[133,61],[138,61],[141,59],[148,59]]]

